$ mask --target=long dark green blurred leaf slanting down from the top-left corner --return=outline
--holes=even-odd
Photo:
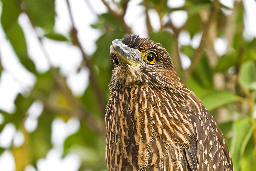
[[[1,24],[5,31],[6,37],[12,44],[13,49],[22,65],[30,72],[36,73],[35,65],[27,55],[27,46],[24,33],[17,23],[20,9],[17,7],[17,4],[13,2],[13,0],[3,0],[2,4],[3,11],[1,15]]]

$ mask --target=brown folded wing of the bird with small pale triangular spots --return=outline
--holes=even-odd
[[[190,97],[192,100],[188,115],[195,135],[190,137],[191,147],[187,149],[190,166],[193,170],[233,170],[230,153],[219,126],[193,92]]]

